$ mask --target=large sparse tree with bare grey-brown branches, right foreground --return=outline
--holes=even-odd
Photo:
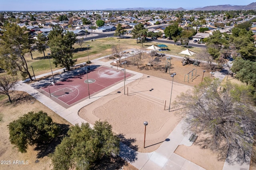
[[[175,105],[182,108],[186,129],[202,134],[200,146],[216,151],[220,160],[242,164],[250,162],[256,132],[250,91],[228,81],[220,87],[218,79],[205,77],[200,86],[178,96]]]

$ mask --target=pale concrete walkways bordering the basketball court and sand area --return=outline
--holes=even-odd
[[[134,52],[126,55],[126,57],[129,57],[129,56],[132,56],[132,55],[135,55],[136,53],[138,53],[138,51],[136,49],[129,49],[127,51],[134,51]],[[171,57],[180,57],[180,56],[174,56],[174,55],[170,55],[170,56]],[[108,56],[104,56],[104,57],[108,57]],[[92,62],[95,64],[98,64],[98,65],[113,67],[112,65],[110,65],[110,63],[112,63],[113,60],[110,60],[107,62],[100,61],[100,59],[102,59],[104,57],[94,59],[94,60],[92,60]],[[183,58],[183,57],[181,57],[181,58]],[[81,63],[81,64],[84,64],[84,63]],[[130,83],[130,82],[134,81],[135,79],[142,77],[142,73],[137,73],[135,71],[130,71],[130,70],[126,70],[126,71],[128,73],[134,74],[133,77],[129,78],[130,81],[127,81],[127,83]],[[63,72],[63,69],[59,69],[59,70],[56,70],[53,72],[54,73]],[[45,75],[51,75],[51,74],[52,73],[50,72],[50,73],[46,73],[43,75],[38,75],[38,76],[36,76],[36,79],[39,77],[43,77]],[[56,76],[56,79],[61,79],[61,75]],[[50,77],[47,80],[44,80],[43,83],[50,84],[51,81],[52,81],[52,78]],[[41,103],[46,105],[49,109],[51,109],[52,111],[54,111],[55,113],[57,113],[58,115],[63,117],[64,119],[66,119],[68,122],[72,123],[73,125],[75,125],[76,123],[78,123],[80,125],[82,122],[86,123],[86,121],[78,116],[79,109],[96,101],[97,99],[103,97],[104,95],[107,95],[107,94],[109,94],[119,88],[122,88],[122,87],[123,87],[123,83],[122,82],[118,83],[118,84],[94,95],[93,98],[86,99],[72,107],[69,107],[68,109],[65,109],[58,103],[55,103],[54,101],[52,101],[51,98],[46,97],[45,95],[42,95],[41,93],[39,93],[36,89],[34,89],[32,87],[32,85],[28,85],[26,83],[21,82],[20,85],[18,86],[17,90],[26,91],[27,93],[29,93],[30,95],[35,97],[38,101],[40,101]],[[170,135],[167,137],[168,140],[164,141],[161,144],[161,146],[154,152],[150,152],[150,153],[137,152],[135,150],[132,150],[125,144],[120,143],[120,156],[140,170],[204,170],[204,168],[202,168],[202,167],[194,164],[193,162],[190,162],[189,160],[186,160],[185,158],[174,153],[174,151],[180,144],[184,144],[186,146],[192,145],[192,142],[189,141],[190,136],[184,136],[182,134],[183,123],[184,122],[181,121],[176,126],[176,128],[174,128],[174,130],[170,133]],[[90,127],[93,127],[93,125],[90,124]],[[225,163],[223,169],[224,170],[229,170],[229,169],[232,169],[232,170],[239,169],[240,170],[241,167],[242,166],[238,166],[238,165],[230,166]],[[244,167],[242,167],[242,168],[244,168]],[[248,169],[247,166],[243,170],[246,170],[246,169]]]

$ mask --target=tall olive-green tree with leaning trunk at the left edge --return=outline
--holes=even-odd
[[[32,81],[24,57],[24,54],[29,52],[32,43],[26,28],[8,23],[3,30],[4,35],[0,40],[0,67],[8,70],[10,75],[17,75],[20,71],[23,79],[28,75]]]

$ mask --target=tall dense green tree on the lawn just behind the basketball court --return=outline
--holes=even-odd
[[[76,62],[76,60],[73,60],[74,47],[72,46],[76,43],[74,33],[68,31],[64,34],[62,28],[55,27],[49,33],[48,38],[48,45],[55,66],[57,67],[60,64],[61,67],[70,70],[70,67]]]

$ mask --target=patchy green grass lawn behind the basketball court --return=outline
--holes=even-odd
[[[153,44],[157,44],[154,41],[150,41],[150,42],[144,42],[143,43],[143,47],[149,47],[150,45]],[[160,44],[160,43],[158,43]],[[168,49],[170,49],[169,51],[159,51],[162,53],[166,53],[166,54],[172,54],[172,55],[180,55],[180,56],[184,56],[180,53],[181,51],[185,50],[185,47],[182,47],[181,45],[174,45],[174,44],[169,44],[169,43],[161,43],[164,45],[168,46]],[[87,45],[90,45],[87,49]],[[91,59],[97,58],[97,57],[102,57],[105,55],[109,55],[112,53],[112,45],[120,45],[120,49],[122,50],[127,50],[127,49],[131,49],[131,48],[137,48],[137,49],[142,49],[142,43],[137,43],[137,41],[135,39],[125,39],[125,38],[103,38],[103,39],[97,39],[95,41],[85,41],[82,44],[82,49],[80,47],[80,45],[78,44],[74,44],[74,59],[78,59],[81,57],[84,57],[84,59],[79,60],[79,62],[85,62],[88,59],[86,58],[89,55],[96,55],[96,57],[90,57]],[[192,47],[190,48],[192,51],[198,53],[200,50],[202,50],[201,48],[198,47]],[[50,53],[50,49],[46,49],[45,51],[45,55],[46,57],[44,57],[43,53],[39,53],[38,51],[33,51],[32,52],[32,56],[33,59],[31,59],[31,55],[30,53],[27,53],[25,55],[26,61],[28,63],[28,67],[29,67],[29,71],[31,73],[31,75],[33,75],[32,72],[32,67],[34,69],[34,73],[35,75],[40,75],[43,73],[48,73],[50,72],[50,63],[49,63],[49,59],[48,59],[48,55],[47,53]],[[51,65],[52,65],[52,69],[56,70],[56,69],[60,69],[61,67],[55,67],[55,65],[52,63],[52,59],[50,59]],[[30,67],[32,66],[32,67]],[[6,73],[1,73],[1,75],[6,75]]]

